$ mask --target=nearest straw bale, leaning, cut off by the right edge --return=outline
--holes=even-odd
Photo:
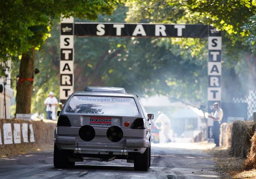
[[[247,155],[247,159],[244,163],[245,170],[256,169],[256,131],[254,130],[254,135],[251,138],[251,148]]]

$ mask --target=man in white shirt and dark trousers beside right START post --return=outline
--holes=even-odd
[[[220,122],[223,118],[223,111],[220,105],[216,102],[213,104],[215,113],[213,115],[213,139],[216,147],[220,146]]]

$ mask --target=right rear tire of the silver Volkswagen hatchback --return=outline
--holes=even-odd
[[[149,147],[144,153],[135,153],[134,156],[134,170],[147,171],[149,167]]]

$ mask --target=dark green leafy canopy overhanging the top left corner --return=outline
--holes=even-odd
[[[64,16],[97,19],[111,14],[119,0],[8,0],[0,6],[0,60],[40,47],[49,37],[53,21]]]

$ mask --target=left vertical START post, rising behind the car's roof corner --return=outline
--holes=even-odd
[[[74,18],[62,18],[60,29],[60,88],[59,99],[62,104],[74,88]]]

